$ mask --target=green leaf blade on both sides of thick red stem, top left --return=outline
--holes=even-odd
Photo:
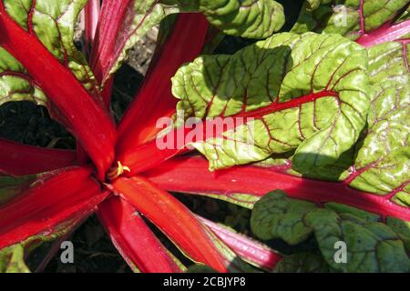
[[[98,85],[87,60],[74,45],[77,16],[87,0],[5,0],[6,12],[73,72],[84,87],[97,95]],[[9,101],[47,105],[46,95],[15,57],[0,47],[0,105]]]

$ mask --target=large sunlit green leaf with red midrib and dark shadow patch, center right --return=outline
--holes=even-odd
[[[235,55],[200,56],[179,69],[172,92],[186,117],[247,118],[193,144],[211,170],[294,152],[293,169],[307,173],[357,141],[369,107],[366,69],[364,48],[339,35],[282,33]]]

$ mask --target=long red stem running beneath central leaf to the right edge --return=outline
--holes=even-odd
[[[395,216],[410,221],[410,209],[396,205],[388,195],[365,193],[343,183],[290,176],[265,167],[235,166],[210,172],[208,161],[204,158],[179,157],[157,166],[145,176],[168,191],[263,196],[272,190],[282,189],[294,198],[318,204],[335,202],[378,214],[382,218]]]

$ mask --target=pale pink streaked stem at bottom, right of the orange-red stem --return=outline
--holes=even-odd
[[[198,217],[205,226],[210,227],[210,230],[218,236],[222,242],[231,247],[238,256],[241,256],[241,258],[252,265],[272,271],[282,260],[282,256],[273,252],[268,246],[264,246],[249,237],[241,236],[229,228],[220,226],[208,219]]]

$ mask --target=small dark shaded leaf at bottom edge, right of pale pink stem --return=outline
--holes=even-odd
[[[329,266],[322,256],[301,253],[283,257],[273,273],[328,273],[329,271]]]

